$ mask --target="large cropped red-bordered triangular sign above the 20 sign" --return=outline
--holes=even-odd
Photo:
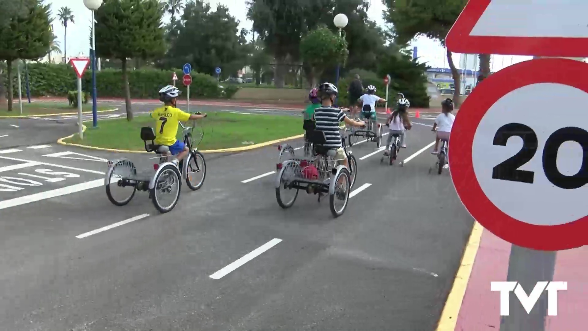
[[[588,57],[586,0],[469,0],[447,49],[465,54]]]

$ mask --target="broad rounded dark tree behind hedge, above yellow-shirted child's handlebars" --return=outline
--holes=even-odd
[[[223,74],[235,74],[246,64],[250,54],[247,31],[239,32],[239,21],[229,9],[218,5],[216,11],[202,0],[186,4],[178,37],[172,41],[164,67],[181,67],[190,62],[195,71],[213,74],[222,67]]]

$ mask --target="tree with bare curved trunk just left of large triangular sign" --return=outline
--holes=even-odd
[[[384,0],[387,5],[385,18],[394,25],[397,41],[409,42],[424,35],[445,45],[445,37],[462,12],[467,0]],[[460,77],[453,53],[447,50],[447,63],[451,69],[455,90],[453,100],[459,105]]]

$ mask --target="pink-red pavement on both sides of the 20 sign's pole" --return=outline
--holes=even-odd
[[[500,293],[490,282],[506,280],[512,245],[484,230],[455,331],[498,331]],[[558,315],[548,316],[546,331],[585,331],[588,312],[588,246],[559,251],[554,280],[567,282],[558,292]]]

